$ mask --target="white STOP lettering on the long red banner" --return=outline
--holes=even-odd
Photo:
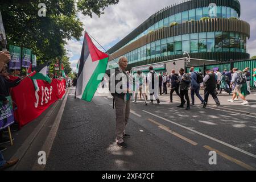
[[[38,92],[42,93],[41,105],[43,105],[43,104],[47,104],[49,101],[51,101],[52,90],[53,90],[52,86],[50,86],[49,89],[47,87],[44,87],[44,86],[41,86],[41,90],[39,89],[39,87],[38,87],[38,89],[36,89],[36,91],[35,91],[35,97],[36,97],[35,108],[37,108],[38,104],[39,104],[39,94],[38,94]]]

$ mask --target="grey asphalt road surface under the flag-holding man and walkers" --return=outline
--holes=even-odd
[[[115,110],[108,90],[98,89],[92,102],[74,98],[69,88],[38,119],[14,133],[14,146],[6,159],[18,156],[20,162],[10,170],[256,170],[256,95],[230,103],[228,94],[218,96],[221,106],[203,109],[196,98],[191,110],[177,108],[179,98],[169,103],[145,106],[131,103],[125,139],[128,147],[115,141]],[[46,152],[46,164],[38,163],[39,151]],[[216,164],[211,156],[216,152]]]

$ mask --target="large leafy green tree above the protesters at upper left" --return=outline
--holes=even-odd
[[[0,0],[0,10],[5,26],[7,43],[32,49],[40,63],[67,55],[64,48],[72,37],[82,36],[82,23],[77,18],[84,15],[100,16],[109,5],[119,0]],[[39,17],[39,3],[46,5],[46,17]]]

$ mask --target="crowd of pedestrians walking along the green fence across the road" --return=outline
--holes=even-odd
[[[185,73],[181,68],[179,73],[176,73],[173,69],[169,75],[166,72],[156,73],[153,67],[148,69],[148,73],[145,76],[142,71],[138,71],[134,75],[130,74],[133,78],[135,89],[134,91],[134,103],[137,103],[138,93],[143,96],[144,103],[147,105],[147,94],[150,95],[150,104],[153,104],[153,96],[157,103],[160,103],[159,94],[167,94],[170,87],[170,103],[173,102],[173,93],[180,97],[180,105],[178,107],[184,107],[187,103],[186,110],[189,110],[191,106],[195,105],[195,95],[201,101],[203,108],[207,107],[209,95],[213,97],[216,105],[220,105],[218,100],[218,94],[232,94],[229,102],[234,102],[241,98],[242,105],[248,105],[246,96],[250,94],[250,81],[254,79],[256,86],[256,68],[253,69],[253,74],[250,73],[250,68],[245,68],[242,71],[238,68],[233,68],[230,71],[224,69],[220,72],[219,69],[215,71],[213,69],[205,70],[205,73],[201,71],[195,71],[195,68],[190,68],[189,73]],[[127,72],[129,74],[129,72]],[[139,80],[139,82],[138,82]],[[155,82],[158,82],[155,85]],[[137,83],[137,84],[135,84]],[[200,95],[200,90],[204,89],[204,98]],[[189,90],[191,95],[191,101],[189,99]],[[146,99],[145,99],[146,98]]]

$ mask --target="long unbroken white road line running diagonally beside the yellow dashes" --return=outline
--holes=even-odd
[[[144,113],[148,113],[148,114],[150,114],[150,115],[153,115],[154,117],[157,117],[157,118],[163,119],[164,121],[170,122],[170,123],[172,123],[172,124],[174,124],[174,125],[177,125],[177,126],[183,127],[184,129],[187,129],[187,130],[189,130],[189,131],[192,131],[193,133],[199,134],[199,135],[201,135],[201,136],[203,136],[203,137],[205,137],[205,138],[211,139],[211,140],[213,140],[213,141],[215,141],[215,142],[217,142],[217,143],[221,143],[221,144],[223,144],[224,146],[227,146],[227,147],[229,147],[229,148],[233,148],[234,150],[240,151],[240,152],[242,152],[243,154],[249,155],[249,156],[251,156],[251,157],[253,157],[253,158],[255,158],[255,159],[256,159],[256,155],[251,154],[250,152],[247,152],[247,151],[245,151],[245,150],[242,150],[241,148],[238,148],[238,147],[232,146],[231,144],[228,144],[228,143],[226,143],[226,142],[222,142],[221,140],[218,140],[218,139],[213,138],[213,137],[210,137],[210,136],[208,136],[208,135],[206,135],[206,134],[200,133],[199,131],[196,131],[196,130],[190,129],[189,127],[186,127],[186,126],[180,125],[179,123],[176,123],[176,122],[170,121],[169,119],[166,119],[166,118],[160,117],[159,115],[152,114],[152,113],[150,113],[150,112],[148,112],[148,111],[146,111],[146,110],[142,110],[142,111],[143,111]]]

